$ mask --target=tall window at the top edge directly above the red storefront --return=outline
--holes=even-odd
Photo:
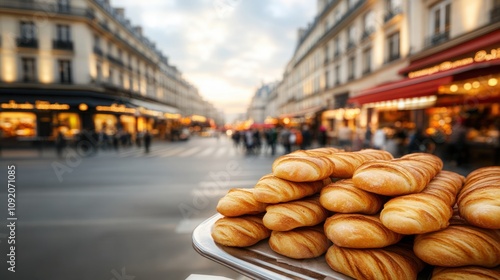
[[[431,7],[430,41],[428,45],[436,45],[448,40],[451,28],[451,1],[442,1]]]

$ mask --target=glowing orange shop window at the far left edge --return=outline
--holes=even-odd
[[[35,137],[36,115],[33,113],[0,113],[0,128],[3,137]]]

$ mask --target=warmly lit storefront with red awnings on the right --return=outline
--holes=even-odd
[[[363,90],[348,103],[367,112],[364,121],[378,127],[398,122],[449,137],[453,124],[460,121],[472,146],[496,141],[500,30],[420,55],[400,74],[405,78]]]

